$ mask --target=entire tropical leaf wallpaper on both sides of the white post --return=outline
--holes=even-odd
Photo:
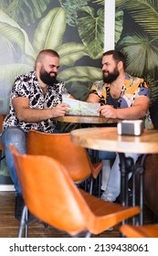
[[[34,69],[43,48],[58,51],[58,79],[86,100],[102,77],[106,1],[0,0],[0,112],[8,110],[16,75]],[[115,48],[126,55],[127,72],[148,80],[152,101],[158,98],[157,0],[115,0]]]

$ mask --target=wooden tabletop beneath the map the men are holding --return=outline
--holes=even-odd
[[[85,115],[65,115],[57,117],[55,120],[63,123],[118,123],[117,119]]]

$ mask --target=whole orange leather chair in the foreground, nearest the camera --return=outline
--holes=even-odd
[[[26,208],[37,219],[68,232],[70,236],[99,234],[123,219],[139,214],[139,207],[105,202],[75,186],[67,168],[52,157],[22,155],[10,145],[26,207],[19,237],[27,225]]]

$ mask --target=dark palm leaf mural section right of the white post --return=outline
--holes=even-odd
[[[115,48],[127,56],[127,72],[149,81],[154,101],[158,99],[158,1],[115,0],[115,9]]]

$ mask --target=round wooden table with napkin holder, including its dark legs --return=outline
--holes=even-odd
[[[144,130],[142,135],[119,135],[117,127],[98,127],[77,129],[71,132],[71,140],[75,144],[95,150],[117,152],[120,156],[121,170],[121,204],[128,206],[128,175],[133,175],[132,205],[135,205],[135,180],[140,174],[140,207],[143,209],[143,166],[147,154],[158,154],[158,131]],[[132,157],[125,153],[142,154],[141,164],[134,165]],[[152,164],[152,163],[151,163]],[[143,223],[143,211],[139,224]]]

